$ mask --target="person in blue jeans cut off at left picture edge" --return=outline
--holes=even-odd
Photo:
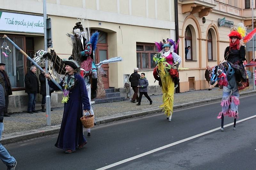
[[[4,108],[5,108],[5,97],[4,97],[4,88],[0,84],[0,140],[2,133],[4,131]],[[0,159],[7,166],[7,170],[14,170],[17,161],[9,154],[9,152],[4,148],[4,146],[0,143]]]

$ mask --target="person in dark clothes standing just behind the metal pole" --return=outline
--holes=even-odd
[[[42,67],[43,70],[45,71],[45,67]],[[42,95],[42,112],[45,112],[45,101],[46,101],[46,80],[44,77],[44,73],[40,73],[39,75],[39,81],[40,81],[40,95]],[[49,87],[49,95],[50,95],[50,99],[51,99],[51,95],[52,95],[53,89]],[[52,111],[52,108],[51,108]]]

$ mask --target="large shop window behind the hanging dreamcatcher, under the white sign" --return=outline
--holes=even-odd
[[[9,38],[17,44],[22,50],[23,49],[23,37],[11,37]],[[17,50],[14,46],[12,46],[11,42],[7,39],[0,39],[0,44],[2,46],[3,42],[6,42],[9,48],[12,50],[11,53],[8,54],[8,57],[5,57],[2,55],[2,52],[5,52],[4,50],[0,48],[0,62],[6,64],[5,71],[10,77],[10,82],[12,85],[12,89],[16,88],[24,88],[24,56],[20,53],[19,50]]]

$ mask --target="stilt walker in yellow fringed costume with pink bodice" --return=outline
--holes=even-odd
[[[180,56],[176,53],[178,42],[172,39],[163,39],[163,43],[157,43],[158,52],[153,57],[156,67],[153,71],[154,78],[159,81],[159,85],[163,91],[163,104],[160,108],[164,108],[164,114],[167,120],[171,122],[173,113],[174,89],[178,87],[179,71],[178,66],[181,62]]]

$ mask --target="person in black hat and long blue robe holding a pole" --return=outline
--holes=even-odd
[[[75,60],[63,62],[66,65],[66,75],[60,86],[63,88],[64,112],[55,146],[65,150],[65,153],[72,153],[87,143],[80,118],[83,111],[87,112],[91,108],[84,79],[77,74],[79,65]],[[50,79],[50,74],[45,74],[45,77]],[[48,84],[54,90],[59,89],[52,81],[48,81]]]

